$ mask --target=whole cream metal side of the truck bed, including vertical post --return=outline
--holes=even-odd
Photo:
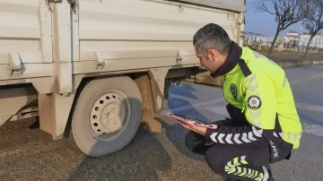
[[[82,0],[73,15],[46,2],[0,0],[0,85],[65,93],[75,74],[199,66],[196,30],[214,22],[240,41],[243,29],[239,12],[179,1]]]

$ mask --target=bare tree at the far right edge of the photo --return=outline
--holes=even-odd
[[[323,29],[323,0],[310,0],[309,13],[302,22],[303,27],[309,30],[310,40],[306,46],[304,56],[308,53],[311,40]]]

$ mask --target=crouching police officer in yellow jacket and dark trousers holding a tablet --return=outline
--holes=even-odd
[[[189,151],[228,180],[273,180],[269,165],[290,159],[301,140],[301,123],[284,70],[249,47],[240,47],[217,24],[193,40],[201,65],[222,76],[230,118],[217,129],[184,125]]]

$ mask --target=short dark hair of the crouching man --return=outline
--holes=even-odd
[[[196,32],[193,45],[205,55],[208,49],[215,49],[220,54],[226,55],[231,49],[231,39],[221,26],[209,23]]]

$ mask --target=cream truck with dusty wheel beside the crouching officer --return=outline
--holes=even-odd
[[[162,130],[173,82],[221,87],[193,36],[216,23],[242,45],[245,12],[245,0],[0,0],[0,126],[37,117],[86,155],[120,151],[140,125]]]

